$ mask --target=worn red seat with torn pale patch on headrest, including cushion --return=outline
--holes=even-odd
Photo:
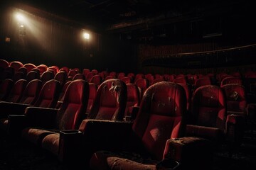
[[[72,138],[72,135],[68,135],[66,133],[69,133],[70,130],[73,130],[74,128],[70,128],[70,130],[65,128],[66,130],[62,130],[60,133],[51,133],[44,137],[41,144],[42,147],[55,154],[61,162],[71,162],[71,159],[79,159],[78,157],[83,154],[83,149],[87,150],[87,153],[83,155],[90,154],[90,149],[93,150],[95,147],[87,145],[86,142],[97,137],[94,135],[94,137],[90,137],[90,139],[88,139],[87,135],[92,135],[92,132],[94,131],[91,125],[95,125],[96,123],[94,121],[96,120],[106,120],[111,122],[122,121],[124,118],[126,103],[126,84],[119,79],[109,79],[104,81],[97,88],[97,93],[87,118],[82,120],[77,132],[71,132],[78,135],[77,137],[79,140],[71,139],[66,141],[68,137],[71,136]],[[73,141],[73,143],[71,142],[72,144],[70,144],[70,141]],[[67,150],[69,150],[69,152]],[[72,152],[72,154],[70,152]],[[69,157],[69,159],[67,157]]]

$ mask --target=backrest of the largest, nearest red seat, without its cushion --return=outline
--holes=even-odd
[[[186,94],[183,87],[168,81],[146,89],[132,125],[132,141],[141,143],[152,157],[161,160],[166,140],[185,133]],[[136,138],[133,138],[136,137]]]

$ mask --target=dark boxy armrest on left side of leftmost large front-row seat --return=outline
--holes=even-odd
[[[29,126],[55,128],[57,112],[58,109],[55,108],[28,107],[26,108],[25,115]]]

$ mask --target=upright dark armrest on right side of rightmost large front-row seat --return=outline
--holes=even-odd
[[[243,115],[228,115],[226,122],[226,137],[228,142],[240,145],[245,131],[245,117]]]

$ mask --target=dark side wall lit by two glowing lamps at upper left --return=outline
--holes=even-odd
[[[18,8],[1,7],[0,57],[8,61],[58,65],[116,72],[136,72],[136,46],[117,35],[102,35],[89,30],[90,40],[82,39],[80,26],[55,18],[44,18]],[[21,30],[14,14],[27,20]],[[10,38],[10,42],[6,42]]]

